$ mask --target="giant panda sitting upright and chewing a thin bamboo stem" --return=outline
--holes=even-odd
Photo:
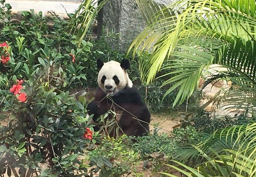
[[[98,59],[97,67],[100,69],[99,87],[95,91],[95,99],[87,105],[87,113],[93,114],[93,122],[109,110],[122,112],[118,121],[121,128],[119,135],[146,135],[149,132],[150,112],[126,72],[130,69],[130,62],[123,59],[121,63],[103,63]]]

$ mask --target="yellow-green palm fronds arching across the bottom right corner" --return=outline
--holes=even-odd
[[[197,155],[204,161],[197,169],[173,160],[169,165],[186,176],[253,177],[256,175],[256,123],[234,125],[216,131],[208,140],[194,146]],[[194,151],[193,151],[194,152]],[[184,153],[184,159],[194,158],[193,153]],[[177,167],[180,166],[180,167]],[[182,168],[181,168],[182,167]],[[183,170],[186,169],[187,171]]]

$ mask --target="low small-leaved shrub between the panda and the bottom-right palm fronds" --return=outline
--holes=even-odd
[[[135,138],[136,142],[131,146],[144,160],[143,167],[148,170],[152,167],[152,172],[171,171],[165,164],[176,158],[183,151],[183,146],[196,144],[205,138],[192,126],[174,129],[171,135],[158,131],[159,129],[154,127],[153,134]]]

